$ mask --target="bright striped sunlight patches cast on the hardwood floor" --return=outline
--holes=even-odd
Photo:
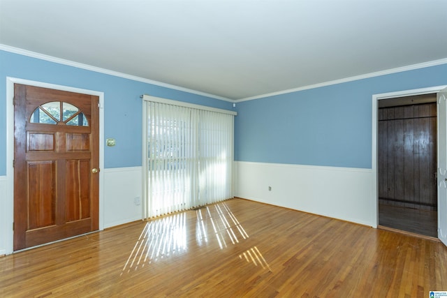
[[[249,238],[249,234],[224,202],[196,209],[195,231],[188,231],[186,228],[186,221],[191,220],[187,218],[190,214],[191,211],[184,211],[149,221],[135,242],[121,275],[152,262],[184,254],[188,251],[188,245],[210,246],[217,241],[219,248],[223,250]],[[196,241],[191,242],[188,238],[194,234]],[[256,246],[240,253],[238,257],[270,270],[268,262]]]

